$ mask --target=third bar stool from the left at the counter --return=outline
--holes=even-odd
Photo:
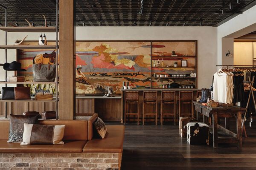
[[[161,125],[163,125],[163,115],[174,116],[174,124],[176,125],[176,96],[175,91],[162,91],[161,93]],[[164,105],[174,105],[173,113],[163,113]]]

